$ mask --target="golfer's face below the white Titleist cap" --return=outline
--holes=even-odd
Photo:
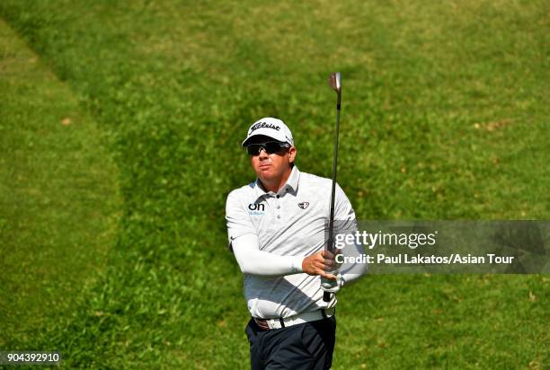
[[[266,141],[273,141],[270,137],[254,137],[251,144],[261,144]],[[290,163],[294,162],[296,157],[296,148],[282,148],[278,153],[268,154],[265,150],[260,150],[260,154],[251,155],[254,172],[258,179],[264,182],[278,181],[285,173],[290,171]]]

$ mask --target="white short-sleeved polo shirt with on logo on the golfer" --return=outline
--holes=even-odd
[[[261,251],[284,256],[309,256],[324,248],[330,216],[331,179],[299,172],[294,166],[277,193],[262,189],[260,181],[233,190],[227,196],[229,243],[254,233]],[[357,229],[350,200],[336,186],[334,219],[348,220]],[[256,318],[286,318],[336,304],[323,301],[321,278],[297,273],[277,278],[244,275],[244,297]]]

